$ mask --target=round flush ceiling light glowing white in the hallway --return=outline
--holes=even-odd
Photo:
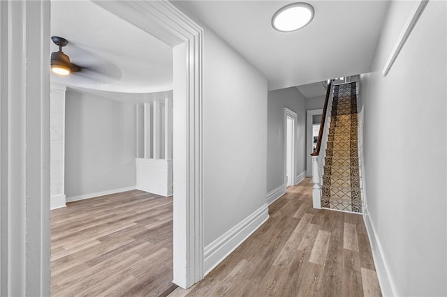
[[[284,6],[274,13],[272,26],[277,31],[291,32],[307,26],[314,18],[314,7],[298,2]]]

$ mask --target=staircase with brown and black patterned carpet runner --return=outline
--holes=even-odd
[[[362,213],[357,126],[357,82],[335,85],[323,173],[323,208]]]

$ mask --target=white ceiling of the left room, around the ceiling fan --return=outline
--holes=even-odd
[[[66,38],[62,51],[85,67],[66,77],[52,73],[52,82],[124,93],[173,89],[172,48],[91,1],[51,1],[51,34]]]

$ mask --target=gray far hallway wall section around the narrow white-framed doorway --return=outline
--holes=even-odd
[[[305,171],[306,99],[295,87],[268,92],[267,192],[284,185],[284,107],[298,114],[295,174]]]

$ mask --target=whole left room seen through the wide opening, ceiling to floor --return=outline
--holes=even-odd
[[[69,202],[51,213],[51,294],[172,291],[173,48],[91,1],[51,9],[81,67],[51,75],[50,204]]]

